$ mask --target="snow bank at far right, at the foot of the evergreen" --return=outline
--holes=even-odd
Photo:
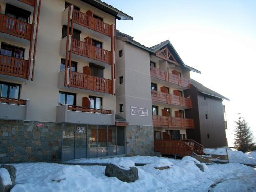
[[[231,148],[227,148],[227,151],[229,162],[231,163],[244,163],[256,165],[256,152],[243,153],[241,151],[233,150]],[[205,148],[204,153],[215,155],[227,155],[226,148]]]

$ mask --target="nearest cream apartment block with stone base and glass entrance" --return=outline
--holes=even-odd
[[[125,154],[116,19],[101,1],[0,1],[0,161]]]

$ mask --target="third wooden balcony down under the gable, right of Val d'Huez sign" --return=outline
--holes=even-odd
[[[193,129],[193,119],[167,117],[153,115],[153,126],[155,127],[167,127],[167,128],[181,128],[181,129]]]

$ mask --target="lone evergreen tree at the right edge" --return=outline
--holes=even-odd
[[[242,152],[248,152],[252,150],[254,146],[253,133],[250,131],[247,122],[240,116],[236,123],[236,129],[234,133],[234,147]]]

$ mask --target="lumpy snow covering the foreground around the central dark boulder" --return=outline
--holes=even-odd
[[[134,183],[106,177],[105,166],[14,164],[17,177],[11,191],[256,191],[256,169],[238,163],[202,164],[205,168],[202,172],[195,165],[199,162],[189,156],[182,160],[136,156],[75,161],[149,164],[137,167],[139,179]],[[154,168],[159,166],[170,169]]]

